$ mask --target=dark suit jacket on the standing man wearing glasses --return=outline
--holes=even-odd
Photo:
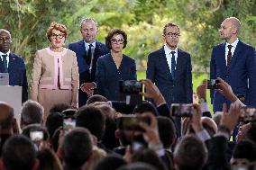
[[[148,57],[147,78],[160,89],[166,103],[192,103],[192,73],[190,55],[178,49],[174,78],[166,59],[164,48],[151,52]]]

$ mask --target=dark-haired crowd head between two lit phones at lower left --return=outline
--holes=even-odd
[[[50,112],[46,119],[45,126],[49,132],[50,139],[52,138],[55,130],[63,126],[63,115],[59,112]]]

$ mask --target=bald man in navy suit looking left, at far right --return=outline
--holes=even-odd
[[[255,49],[238,39],[241,23],[235,17],[224,20],[219,29],[224,43],[214,47],[210,63],[210,78],[221,77],[231,85],[233,93],[245,97],[245,104],[256,107]],[[214,112],[221,111],[223,103],[231,102],[222,94],[211,91]]]

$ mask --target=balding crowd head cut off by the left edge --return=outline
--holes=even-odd
[[[14,108],[8,103],[0,102],[0,130],[5,130],[12,125]]]

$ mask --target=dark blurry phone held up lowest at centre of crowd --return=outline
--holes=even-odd
[[[151,120],[147,117],[135,117],[134,115],[123,115],[117,120],[119,130],[144,131],[140,122],[150,125]]]

